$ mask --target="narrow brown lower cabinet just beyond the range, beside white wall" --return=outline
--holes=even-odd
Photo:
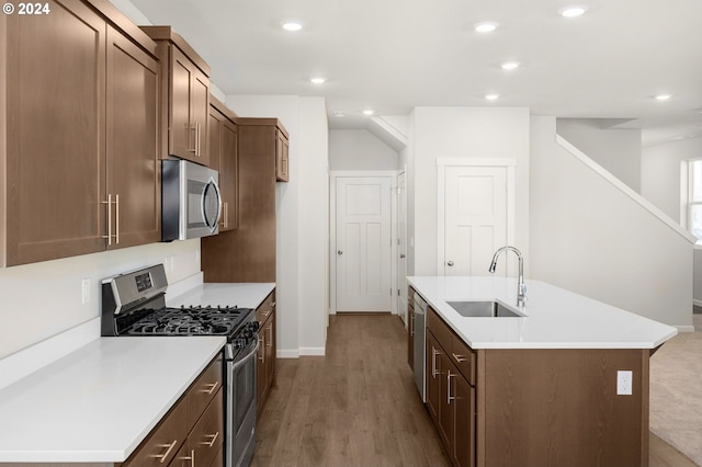
[[[256,403],[260,415],[271,388],[275,386],[275,291],[256,309],[256,317],[261,323],[256,367]]]

